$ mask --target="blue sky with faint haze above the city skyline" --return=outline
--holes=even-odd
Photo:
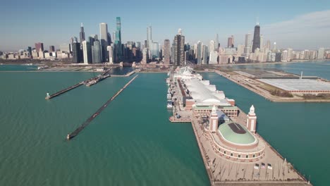
[[[26,49],[35,42],[44,46],[68,43],[85,35],[99,35],[99,23],[108,23],[112,35],[116,16],[121,17],[122,39],[143,41],[152,24],[152,39],[173,40],[178,28],[186,42],[209,44],[219,34],[221,46],[230,35],[243,44],[259,17],[264,39],[279,47],[315,49],[330,46],[330,1],[23,1],[1,2],[0,50]]]

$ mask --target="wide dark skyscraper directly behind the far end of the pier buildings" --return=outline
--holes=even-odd
[[[179,28],[178,35],[174,37],[174,65],[180,66],[185,61],[185,37],[182,35],[182,30]]]

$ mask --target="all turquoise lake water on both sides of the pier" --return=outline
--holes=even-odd
[[[322,77],[330,72],[321,66]],[[305,66],[305,68],[304,68]],[[15,67],[12,67],[15,68]],[[276,68],[318,75],[310,63]],[[0,73],[0,185],[209,185],[190,124],[173,124],[166,74],[140,73],[72,141],[69,132],[132,77],[110,77],[59,97],[54,93],[93,73]],[[313,185],[330,182],[330,104],[273,103],[215,73],[203,73],[247,112],[257,131]],[[319,75],[321,76],[321,75]]]

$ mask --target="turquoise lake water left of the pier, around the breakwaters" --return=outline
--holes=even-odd
[[[0,73],[0,185],[209,185],[190,124],[169,122],[166,74],[109,77],[45,100],[93,73]],[[6,81],[4,81],[6,80]]]

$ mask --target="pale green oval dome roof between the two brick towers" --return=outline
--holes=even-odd
[[[245,127],[232,121],[221,124],[218,130],[221,137],[232,144],[250,145],[257,142],[257,139]]]

